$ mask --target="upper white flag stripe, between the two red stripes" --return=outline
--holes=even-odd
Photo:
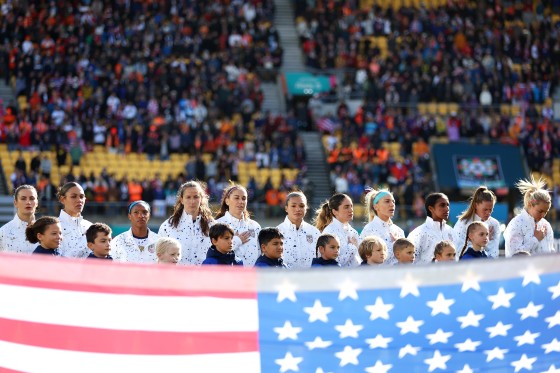
[[[257,331],[256,299],[107,294],[0,284],[0,318],[160,332]]]

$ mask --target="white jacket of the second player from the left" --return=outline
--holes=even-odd
[[[86,231],[91,222],[82,216],[72,217],[61,210],[60,225],[62,226],[62,243],[58,248],[60,255],[66,258],[87,258],[91,250],[87,247]]]

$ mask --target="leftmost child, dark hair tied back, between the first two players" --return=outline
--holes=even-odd
[[[25,229],[25,237],[31,243],[39,243],[33,254],[60,256],[58,248],[62,243],[60,220],[54,216],[43,216]]]

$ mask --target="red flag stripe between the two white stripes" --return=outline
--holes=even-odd
[[[95,317],[95,315],[84,315],[84,317]],[[165,315],[151,317],[165,317]],[[0,340],[6,342],[82,352],[194,355],[258,351],[257,332],[175,333],[109,330],[4,318],[0,318],[0,330],[2,331]]]

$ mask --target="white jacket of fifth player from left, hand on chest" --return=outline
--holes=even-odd
[[[243,243],[241,238],[233,237],[233,251],[235,256],[243,261],[245,267],[253,267],[258,257],[261,255],[261,248],[259,247],[259,232],[261,226],[251,219],[237,219],[226,211],[226,214],[216,220],[217,222],[227,224],[233,229],[235,234],[249,232],[251,237],[249,241]]]

